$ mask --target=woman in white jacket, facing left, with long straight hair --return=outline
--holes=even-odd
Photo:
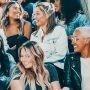
[[[50,62],[56,66],[61,84],[64,67],[63,59],[68,50],[65,29],[56,24],[53,4],[48,2],[38,3],[35,14],[38,30],[31,35],[31,40],[38,42],[42,47],[45,54],[44,62]]]

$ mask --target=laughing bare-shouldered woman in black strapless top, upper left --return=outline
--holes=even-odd
[[[27,40],[30,37],[30,23],[25,21],[22,17],[23,10],[19,3],[15,1],[8,2],[3,13],[2,26],[7,37],[7,43],[13,50],[17,49],[19,37]],[[17,54],[17,50],[15,53]],[[16,54],[12,55],[15,55],[14,57],[17,59]]]

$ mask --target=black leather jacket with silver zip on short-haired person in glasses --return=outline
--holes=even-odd
[[[66,56],[64,66],[64,85],[70,90],[81,90],[81,63],[79,54]]]

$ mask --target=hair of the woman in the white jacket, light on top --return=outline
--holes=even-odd
[[[49,2],[38,2],[36,3],[36,7],[38,7],[44,14],[48,16],[47,23],[47,33],[52,32],[53,28],[56,26],[55,20],[55,7],[52,3]]]

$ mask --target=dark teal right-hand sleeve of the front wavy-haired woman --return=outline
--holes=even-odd
[[[45,67],[49,72],[50,82],[59,81],[55,66],[53,64],[47,63],[45,64]]]

